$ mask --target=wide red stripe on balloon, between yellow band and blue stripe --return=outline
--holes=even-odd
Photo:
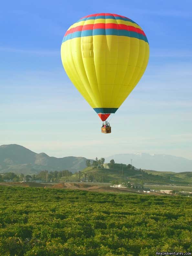
[[[67,30],[65,36],[68,34],[74,33],[76,31],[83,31],[83,30],[91,30],[91,29],[123,29],[127,31],[137,32],[138,34],[142,34],[145,36],[145,33],[140,28],[136,28],[133,26],[128,26],[124,24],[115,24],[115,23],[96,23],[96,24],[87,24],[77,27],[72,27],[71,29]]]

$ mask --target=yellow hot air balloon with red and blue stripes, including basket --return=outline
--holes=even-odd
[[[118,110],[137,85],[148,59],[149,43],[142,28],[111,13],[82,17],[69,27],[61,45],[69,79],[102,121]],[[108,124],[103,123],[103,133],[111,133]]]

